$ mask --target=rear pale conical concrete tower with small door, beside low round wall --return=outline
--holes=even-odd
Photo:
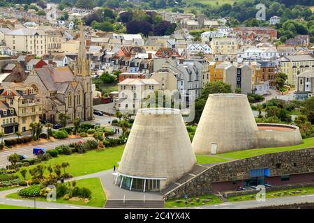
[[[256,148],[257,124],[246,95],[209,95],[192,146],[196,155]]]

